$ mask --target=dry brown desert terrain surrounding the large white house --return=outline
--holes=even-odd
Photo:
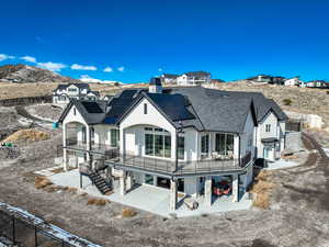
[[[22,87],[23,86],[23,87]],[[0,85],[15,96],[49,93],[57,85]],[[139,87],[139,86],[135,86]],[[23,89],[22,89],[23,88]],[[328,127],[328,98],[316,89],[219,85],[225,90],[261,91],[283,109],[321,115]],[[94,85],[93,90],[113,94],[120,87]],[[34,91],[38,90],[38,91]],[[29,93],[31,94],[26,94]],[[0,90],[3,93],[2,90]],[[7,94],[8,98],[13,94]],[[5,97],[1,94],[1,97]],[[2,99],[2,98],[1,98]],[[291,105],[283,100],[291,99]],[[326,109],[327,108],[327,109]],[[25,108],[31,114],[56,119],[60,111],[49,104]],[[38,187],[33,172],[54,166],[60,130],[52,130],[42,122],[24,120],[15,108],[0,109],[1,130],[35,130],[37,133],[14,135],[14,153],[0,154],[0,201],[25,209],[44,220],[102,246],[180,246],[180,247],[326,247],[329,245],[329,167],[328,158],[314,151],[315,146],[304,139],[307,159],[295,168],[260,173],[256,179],[259,194],[266,193],[269,204],[254,205],[248,211],[228,212],[200,217],[164,218],[105,202],[90,203],[94,198],[69,188]],[[328,142],[326,131],[306,130],[314,137]],[[29,134],[30,133],[30,134]],[[34,132],[33,132],[34,133]],[[322,133],[322,134],[319,134]],[[26,137],[27,135],[27,137]],[[315,136],[318,135],[318,136]],[[22,137],[23,136],[23,137]],[[44,137],[46,136],[46,137]],[[4,137],[3,137],[4,138]],[[325,145],[324,145],[325,146]],[[0,223],[0,228],[4,227]]]

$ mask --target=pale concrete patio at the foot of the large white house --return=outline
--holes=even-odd
[[[48,177],[55,184],[64,187],[80,188],[80,175],[77,169],[67,172],[56,173]],[[89,178],[82,176],[82,190],[94,197],[102,197],[110,201],[117,202],[124,205],[136,207],[164,217],[173,216],[197,216],[203,214],[215,214],[228,211],[248,210],[251,207],[252,201],[242,198],[239,202],[232,202],[230,197],[222,197],[214,200],[212,206],[207,206],[203,202],[203,197],[196,199],[198,207],[194,211],[189,210],[183,203],[182,198],[179,198],[179,207],[171,212],[169,210],[169,190],[143,184],[135,187],[124,197],[118,193],[118,184],[114,182],[114,193],[111,195],[102,195],[98,189],[91,184]]]

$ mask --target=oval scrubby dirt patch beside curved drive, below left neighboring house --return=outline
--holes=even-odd
[[[50,120],[53,122],[56,122],[63,112],[63,109],[53,106],[50,103],[29,105],[25,108],[25,110],[31,115]]]

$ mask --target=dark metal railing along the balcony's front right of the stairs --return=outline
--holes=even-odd
[[[177,164],[172,160],[121,154],[120,156],[112,159],[106,158],[105,164],[117,168],[131,167],[148,171],[182,176],[240,170],[243,169],[250,160],[251,154],[249,153],[240,159],[240,162],[239,159],[204,159],[196,161],[179,161],[178,167],[175,168]]]

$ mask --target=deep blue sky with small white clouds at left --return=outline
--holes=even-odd
[[[190,70],[329,79],[328,0],[16,0],[1,10],[0,65],[124,82]]]

